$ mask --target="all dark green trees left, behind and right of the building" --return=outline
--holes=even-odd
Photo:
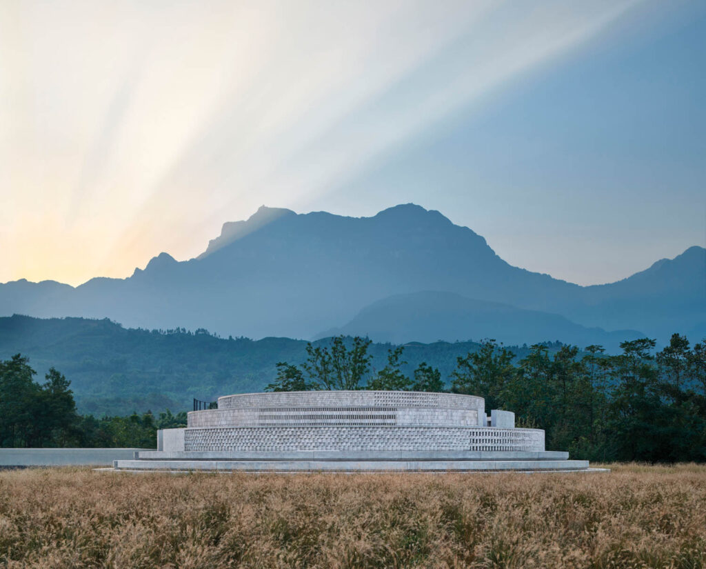
[[[414,390],[480,395],[486,409],[515,412],[517,426],[544,429],[550,450],[601,461],[706,461],[706,340],[674,334],[656,354],[647,338],[621,354],[532,345],[521,358],[484,340],[456,357],[447,381],[438,368],[388,349],[373,368],[368,338],[334,337],[306,346],[306,361],[277,364],[269,391]],[[403,369],[411,370],[407,374]],[[0,446],[154,448],[157,429],[186,425],[186,412],[93,417],[76,412],[71,383],[54,368],[35,381],[27,357],[0,361]]]

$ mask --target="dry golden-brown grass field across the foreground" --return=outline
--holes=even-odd
[[[0,472],[8,568],[703,568],[706,467]]]

